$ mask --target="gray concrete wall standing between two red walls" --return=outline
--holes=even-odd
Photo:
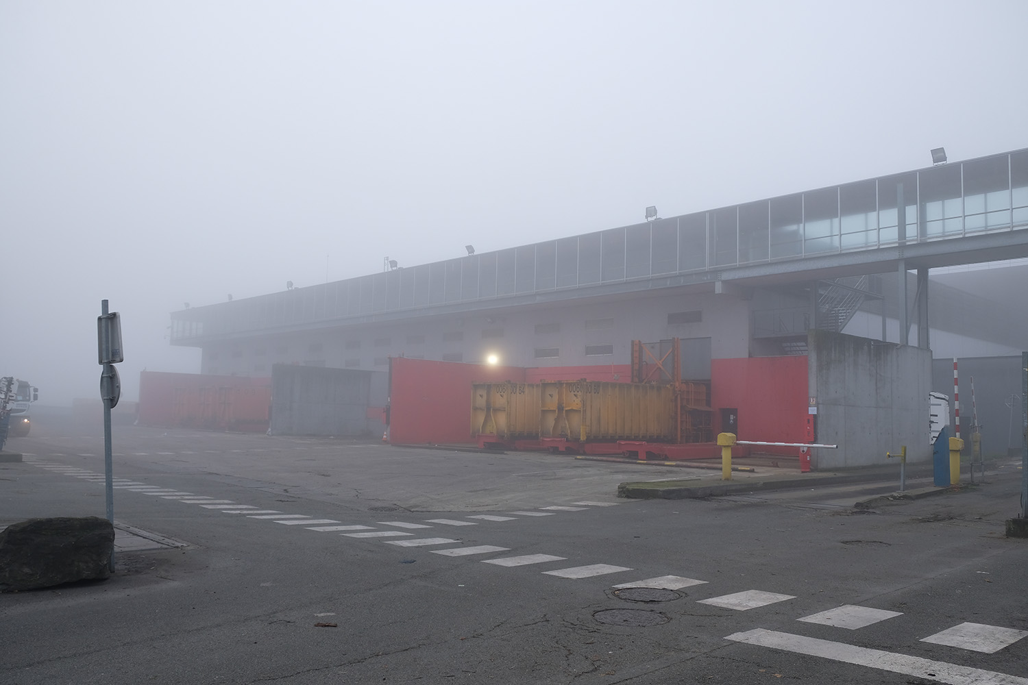
[[[371,434],[367,410],[372,386],[381,394],[381,372],[277,364],[271,367],[271,427],[274,435]],[[384,404],[384,403],[382,403]],[[381,404],[377,405],[381,406]]]

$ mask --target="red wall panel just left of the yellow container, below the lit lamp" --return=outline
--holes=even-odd
[[[471,443],[471,386],[525,382],[520,367],[391,359],[390,442],[400,445]]]

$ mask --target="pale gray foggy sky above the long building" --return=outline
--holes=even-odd
[[[0,3],[0,375],[169,312],[1028,146],[1028,3]]]

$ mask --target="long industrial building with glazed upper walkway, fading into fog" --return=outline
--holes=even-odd
[[[222,376],[270,377],[273,365],[388,371],[391,357],[481,364],[495,354],[512,368],[609,365],[618,380],[632,340],[678,338],[683,376],[715,386],[715,412],[718,373],[737,388],[755,379],[739,369],[765,373],[719,361],[809,352],[809,387],[803,379],[788,391],[803,414],[808,396],[811,414],[820,405],[819,437],[850,446],[822,464],[857,465],[926,433],[918,398],[931,389],[929,348],[969,341],[987,350],[971,354],[987,355],[1028,338],[1025,317],[953,288],[932,287],[929,298],[928,279],[933,268],[1028,257],[1028,149],[647,215],[632,226],[485,254],[468,245],[443,262],[387,262],[380,273],[184,309],[172,313],[172,343],[201,348],[201,373]],[[864,437],[870,426],[883,427],[877,442]],[[913,458],[927,458],[927,447]]]

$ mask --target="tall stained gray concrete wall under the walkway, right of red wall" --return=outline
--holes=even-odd
[[[931,459],[930,350],[828,331],[810,331],[807,345],[817,442],[839,445],[813,450],[812,468],[885,464],[904,445],[908,461]]]

